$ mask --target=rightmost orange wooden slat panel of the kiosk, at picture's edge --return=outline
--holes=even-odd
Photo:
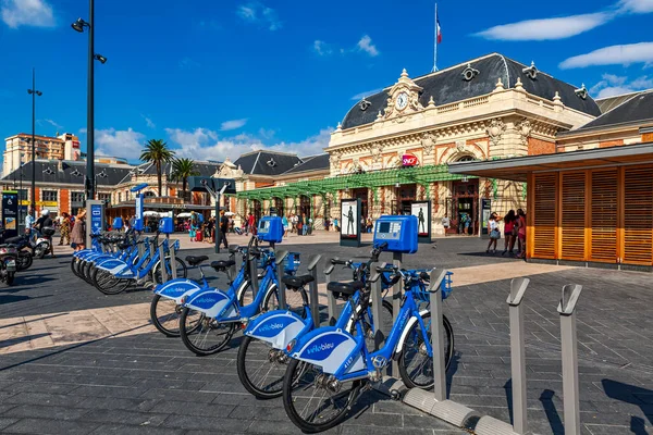
[[[653,166],[624,169],[623,262],[651,265],[653,256]]]

